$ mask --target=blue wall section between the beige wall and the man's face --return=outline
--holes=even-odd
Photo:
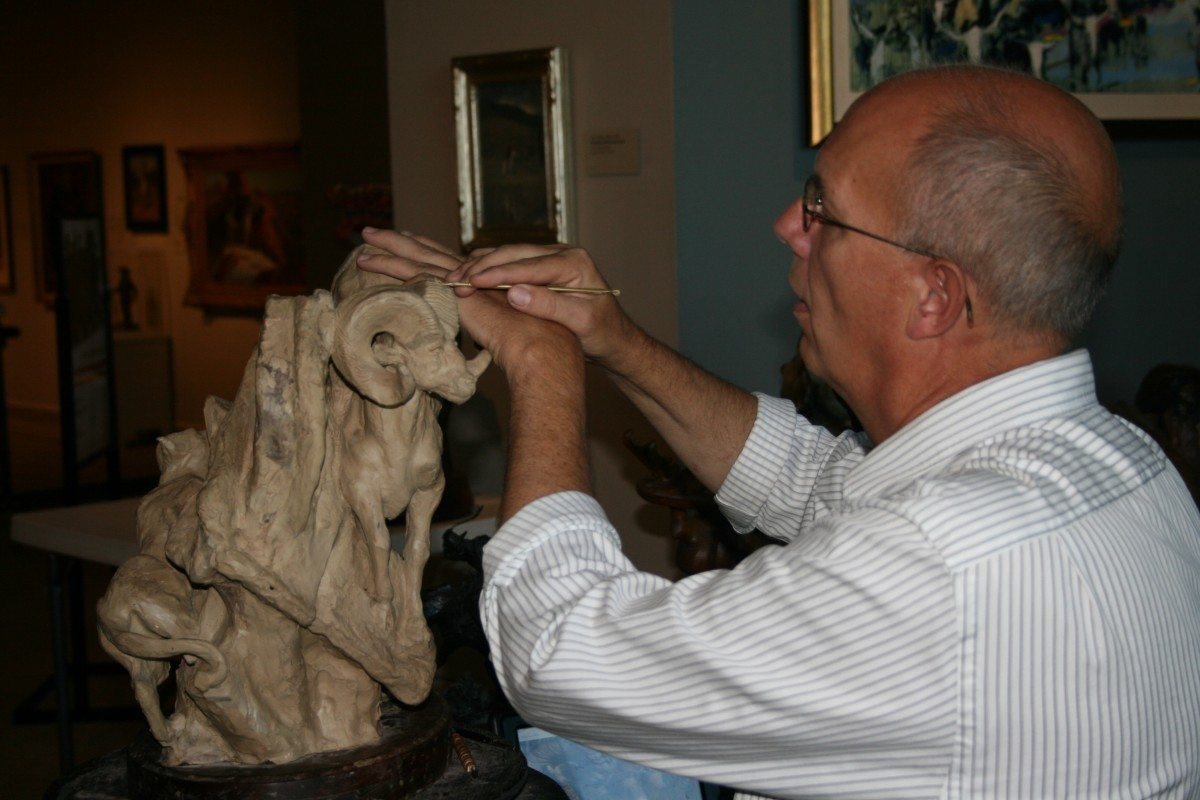
[[[772,223],[803,190],[799,4],[679,0],[676,204],[679,345],[740,386],[778,391],[799,327]]]

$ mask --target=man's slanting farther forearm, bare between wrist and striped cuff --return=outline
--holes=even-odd
[[[600,363],[684,464],[715,492],[750,435],[757,401],[628,324],[622,347]]]

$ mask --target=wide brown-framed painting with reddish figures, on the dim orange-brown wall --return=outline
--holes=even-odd
[[[184,302],[262,309],[305,283],[298,145],[180,150],[187,176],[191,278]]]

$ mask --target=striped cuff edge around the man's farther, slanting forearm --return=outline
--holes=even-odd
[[[733,529],[754,529],[796,438],[796,407],[791,401],[755,392],[758,416],[737,461],[716,492],[716,504]]]

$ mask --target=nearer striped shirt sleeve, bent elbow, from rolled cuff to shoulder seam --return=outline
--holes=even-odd
[[[829,517],[732,571],[638,572],[596,501],[541,498],[484,553],[497,676],[530,723],[775,796],[932,796],[954,736],[954,591],[893,515]]]

